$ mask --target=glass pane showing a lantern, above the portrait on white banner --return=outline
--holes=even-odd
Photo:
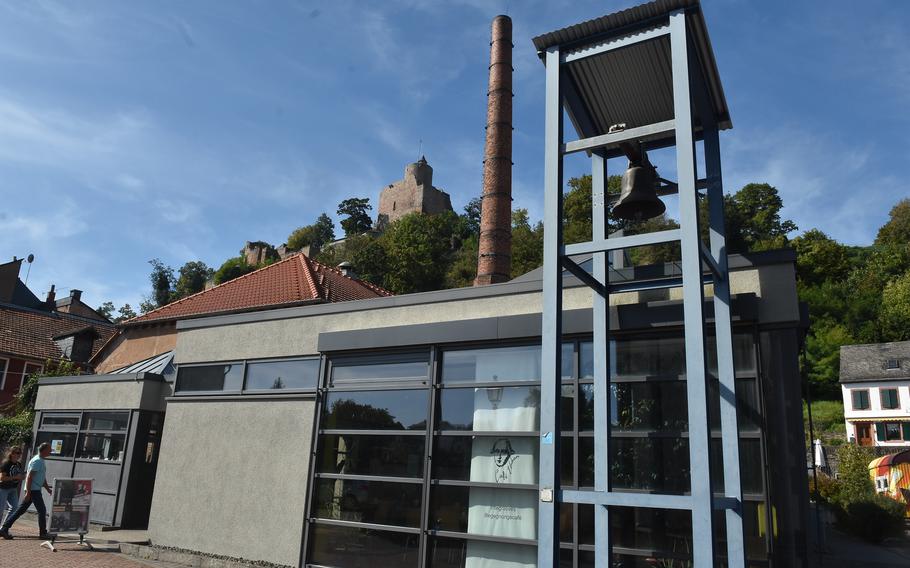
[[[440,390],[440,430],[536,431],[540,387]]]

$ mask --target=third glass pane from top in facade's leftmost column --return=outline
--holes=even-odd
[[[423,476],[422,436],[324,434],[316,470],[349,475]]]

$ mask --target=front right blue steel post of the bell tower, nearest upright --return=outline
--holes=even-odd
[[[676,171],[682,249],[683,325],[686,342],[686,394],[689,408],[689,478],[692,494],[692,560],[695,568],[714,565],[713,494],[709,466],[708,389],[698,195],[695,189],[695,133],[692,120],[686,14],[670,15]]]

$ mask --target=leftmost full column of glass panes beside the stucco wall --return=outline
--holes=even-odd
[[[330,361],[330,369],[319,421],[308,562],[417,566],[429,359],[347,357]],[[423,388],[408,388],[420,383]],[[352,387],[358,390],[344,390]]]

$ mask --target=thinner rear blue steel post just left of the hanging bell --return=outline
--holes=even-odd
[[[607,160],[603,153],[591,155],[592,237],[607,237]],[[594,253],[594,279],[609,290],[607,253]],[[610,474],[610,297],[593,294],[594,317],[594,491],[609,491]],[[594,506],[594,566],[610,568],[610,510]]]

